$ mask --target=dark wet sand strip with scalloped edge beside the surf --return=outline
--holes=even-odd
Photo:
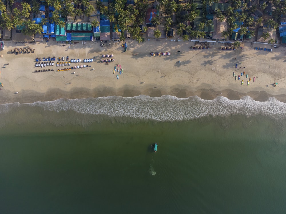
[[[280,102],[286,103],[286,94],[268,94],[265,91],[250,91],[247,93],[241,93],[231,89],[224,89],[216,91],[213,89],[202,88],[196,91],[189,91],[186,88],[179,88],[174,86],[169,92],[161,90],[160,88],[151,88],[146,86],[144,91],[138,91],[133,86],[126,86],[124,88],[116,89],[111,87],[102,88],[74,88],[70,91],[64,91],[59,88],[49,89],[45,93],[35,92],[31,90],[23,90],[18,94],[13,94],[9,91],[0,94],[0,104],[11,104],[17,103],[34,103],[34,102],[45,102],[54,101],[59,99],[85,99],[85,98],[100,98],[108,96],[119,96],[119,97],[134,97],[139,95],[146,95],[150,97],[161,97],[164,95],[175,96],[177,98],[188,98],[192,96],[198,96],[203,100],[213,100],[218,96],[223,96],[229,100],[240,100],[244,96],[250,96],[255,101],[265,102],[270,97],[274,97]]]

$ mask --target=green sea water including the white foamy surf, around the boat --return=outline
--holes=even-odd
[[[248,96],[0,105],[0,213],[285,213],[285,117]]]

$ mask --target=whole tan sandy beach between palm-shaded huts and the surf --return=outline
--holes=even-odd
[[[271,45],[244,43],[243,49],[221,51],[221,43],[211,45],[211,49],[190,50],[194,42],[158,39],[141,44],[134,40],[126,42],[128,49],[124,52],[122,43],[101,47],[96,41],[80,42],[69,47],[55,41],[35,45],[5,41],[5,50],[1,51],[3,57],[0,58],[0,82],[3,83],[0,104],[113,95],[132,97],[140,94],[180,98],[197,95],[202,99],[225,96],[233,100],[249,95],[257,101],[266,101],[273,96],[286,102],[284,47],[267,52],[254,50],[254,47],[271,48]],[[15,47],[33,47],[35,53],[16,55],[11,53]],[[170,52],[171,55],[150,55],[150,52],[156,51]],[[100,62],[102,54],[114,54],[115,62]],[[46,69],[53,68],[55,71],[35,73],[35,70],[41,69],[35,67],[35,58],[48,56],[55,56],[56,59],[69,56],[69,60],[93,58],[94,62],[86,63],[90,66],[88,68],[57,72],[59,67],[54,65]],[[84,62],[72,63],[71,66],[81,64]],[[124,69],[121,75],[119,72],[113,74],[117,64]],[[238,68],[235,68],[235,64],[238,64]],[[62,66],[65,67],[69,66]],[[235,81],[233,72],[238,76],[243,71],[248,78],[243,75],[241,80],[244,80],[244,84],[241,85],[241,80]],[[248,86],[249,77],[251,81]],[[255,82],[253,77],[256,78]],[[276,87],[273,86],[274,82],[278,83]]]

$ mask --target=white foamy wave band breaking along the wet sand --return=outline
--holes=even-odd
[[[75,100],[59,99],[32,104],[5,104],[0,105],[0,114],[13,108],[20,108],[22,105],[40,107],[43,110],[55,112],[75,111],[84,115],[131,117],[160,122],[194,120],[206,116],[263,115],[274,119],[286,116],[286,103],[273,97],[266,102],[259,102],[249,96],[245,96],[241,100],[229,100],[223,96],[214,100],[202,100],[198,96],[177,98],[169,95],[162,97],[140,95],[130,98],[110,96]]]

